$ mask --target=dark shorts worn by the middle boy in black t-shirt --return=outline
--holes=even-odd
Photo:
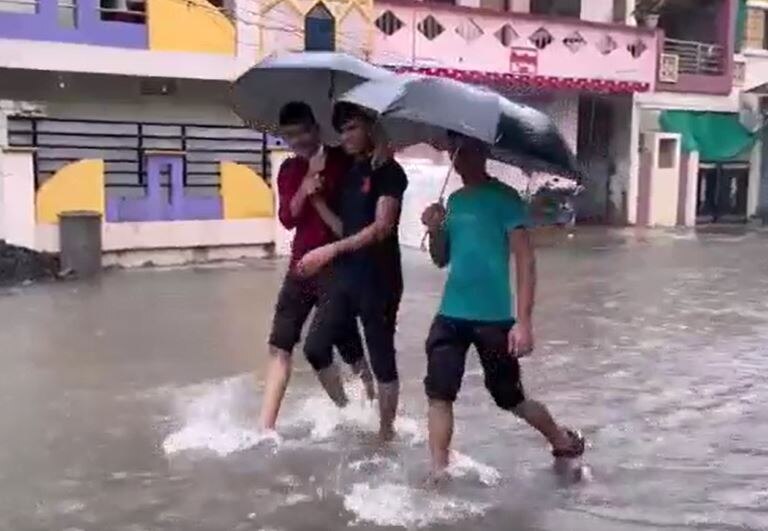
[[[321,294],[317,312],[304,343],[304,353],[315,370],[333,362],[332,345],[344,334],[344,323],[360,318],[365,344],[376,380],[397,380],[395,328],[402,297],[402,284],[352,285],[341,279]]]

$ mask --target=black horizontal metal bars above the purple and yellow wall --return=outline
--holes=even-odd
[[[36,148],[38,186],[68,163],[90,158],[104,160],[108,188],[143,188],[151,153],[182,157],[184,186],[201,194],[218,193],[224,161],[244,164],[269,182],[267,135],[242,126],[11,116],[8,138],[12,146]]]

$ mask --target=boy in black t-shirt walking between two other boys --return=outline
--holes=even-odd
[[[372,163],[374,120],[364,110],[339,104],[334,125],[354,164],[341,184],[342,239],[310,251],[297,264],[301,274],[312,275],[333,263],[332,288],[318,304],[304,352],[328,394],[337,403],[345,402],[333,344],[344,322],[360,317],[378,382],[379,435],[389,440],[399,393],[394,337],[403,292],[397,230],[408,178],[391,157]]]

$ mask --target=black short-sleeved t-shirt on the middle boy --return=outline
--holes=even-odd
[[[355,162],[341,184],[339,195],[338,212],[344,236],[356,234],[374,222],[379,198],[393,197],[402,201],[407,187],[408,178],[395,160],[375,170],[371,168],[370,159]],[[397,232],[396,228],[386,240],[339,257],[341,278],[355,284],[401,289],[403,281]]]

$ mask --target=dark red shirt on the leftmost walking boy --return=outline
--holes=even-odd
[[[335,211],[339,186],[351,165],[351,159],[340,148],[326,148],[325,153],[325,170],[320,172],[323,178],[323,188],[320,193],[331,210]],[[286,229],[296,229],[291,245],[292,265],[312,249],[336,239],[333,231],[325,224],[309,200],[304,203],[298,216],[291,214],[291,200],[301,187],[308,169],[309,162],[306,159],[291,157],[283,162],[277,174],[280,223]]]

